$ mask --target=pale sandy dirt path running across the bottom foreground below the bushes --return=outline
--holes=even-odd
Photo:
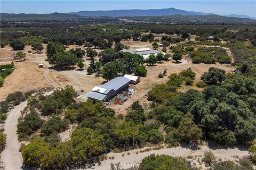
[[[170,155],[170,156],[181,156],[181,157],[187,157],[187,156],[193,156],[192,163],[195,163],[195,166],[200,167],[202,166],[203,169],[206,169],[204,164],[199,165],[199,161],[201,162],[201,159],[204,155],[205,151],[211,150],[215,157],[217,157],[217,160],[221,158],[221,160],[237,160],[234,158],[234,156],[243,157],[248,156],[248,151],[246,150],[246,147],[241,148],[222,148],[217,146],[200,146],[199,148],[189,148],[189,147],[174,147],[174,148],[163,148],[159,150],[150,150],[145,152],[140,152],[142,150],[145,150],[146,148],[142,149],[134,149],[122,153],[109,153],[107,154],[107,157],[114,156],[114,159],[107,159],[101,162],[101,165],[95,165],[94,169],[97,170],[106,170],[110,169],[110,164],[118,164],[121,163],[121,169],[128,169],[128,168],[138,168],[141,160],[151,154],[158,154],[158,155]],[[130,155],[127,155],[127,153],[130,153]],[[138,152],[138,154],[137,154]],[[122,156],[124,154],[124,156]],[[199,160],[199,161],[198,161]],[[91,168],[93,169],[93,168]]]

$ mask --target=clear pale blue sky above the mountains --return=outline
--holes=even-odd
[[[0,1],[3,13],[53,13],[95,10],[160,9],[242,14],[256,18],[256,1]]]

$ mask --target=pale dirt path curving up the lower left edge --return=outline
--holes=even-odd
[[[18,118],[22,111],[27,106],[27,101],[15,106],[7,116],[4,124],[4,133],[6,134],[6,147],[1,154],[5,170],[21,169],[22,156],[19,152],[20,142],[16,134]]]

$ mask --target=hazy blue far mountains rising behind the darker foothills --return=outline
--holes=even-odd
[[[167,16],[167,15],[212,15],[213,13],[204,13],[204,12],[195,12],[195,11],[185,11],[179,10],[176,8],[164,8],[164,9],[151,9],[151,10],[110,10],[110,11],[78,11],[78,12],[71,12],[69,14],[78,14],[82,16],[112,16],[112,17],[119,17],[119,16]],[[236,17],[236,18],[249,18],[256,20],[251,16],[247,15],[237,15],[237,14],[230,14],[230,15],[222,15],[228,17]]]

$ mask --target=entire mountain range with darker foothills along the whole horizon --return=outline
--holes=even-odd
[[[109,22],[130,20],[131,22],[168,22],[174,24],[256,24],[256,19],[246,15],[221,16],[212,13],[184,11],[175,8],[159,10],[112,10],[79,11],[51,14],[7,14],[0,13],[2,21],[88,21]],[[121,20],[123,19],[123,20]]]

